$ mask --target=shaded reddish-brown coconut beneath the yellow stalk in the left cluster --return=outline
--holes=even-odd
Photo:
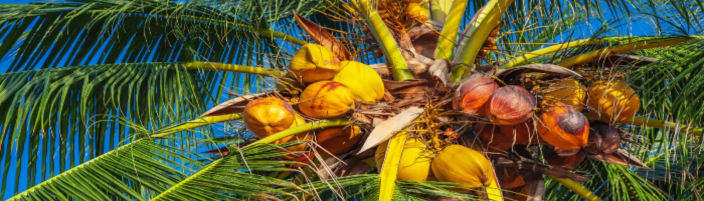
[[[322,129],[315,134],[315,141],[318,141],[318,153],[323,156],[340,155],[352,150],[363,134],[358,126],[334,127]],[[325,150],[323,150],[325,149]]]

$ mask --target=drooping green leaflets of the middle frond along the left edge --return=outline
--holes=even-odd
[[[204,80],[215,75],[169,63],[0,74],[0,153],[4,159],[0,186],[6,190],[6,185],[19,182],[18,176],[7,179],[10,171],[27,174],[27,183],[33,186],[38,176],[44,181],[47,173],[58,174],[55,169],[65,170],[80,164],[82,158],[113,150],[135,131],[123,126],[121,118],[144,127],[165,127],[184,116],[199,115],[212,96],[213,83]]]

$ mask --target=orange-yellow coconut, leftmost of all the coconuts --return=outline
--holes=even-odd
[[[295,112],[289,103],[279,98],[259,98],[247,103],[242,119],[255,136],[265,138],[291,127]]]

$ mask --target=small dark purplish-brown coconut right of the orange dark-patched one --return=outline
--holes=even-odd
[[[591,155],[600,153],[612,154],[621,147],[621,136],[618,129],[610,127],[604,122],[591,122],[589,124],[589,143],[584,151]]]

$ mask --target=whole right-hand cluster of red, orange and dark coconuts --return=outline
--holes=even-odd
[[[453,108],[489,120],[474,124],[487,152],[547,143],[542,150],[546,161],[568,169],[586,154],[611,154],[620,148],[620,134],[610,124],[634,117],[640,108],[634,90],[617,80],[586,88],[575,79],[561,79],[536,93],[543,95],[541,101],[521,86],[499,86],[476,77],[459,86]],[[585,114],[598,121],[590,122]]]

